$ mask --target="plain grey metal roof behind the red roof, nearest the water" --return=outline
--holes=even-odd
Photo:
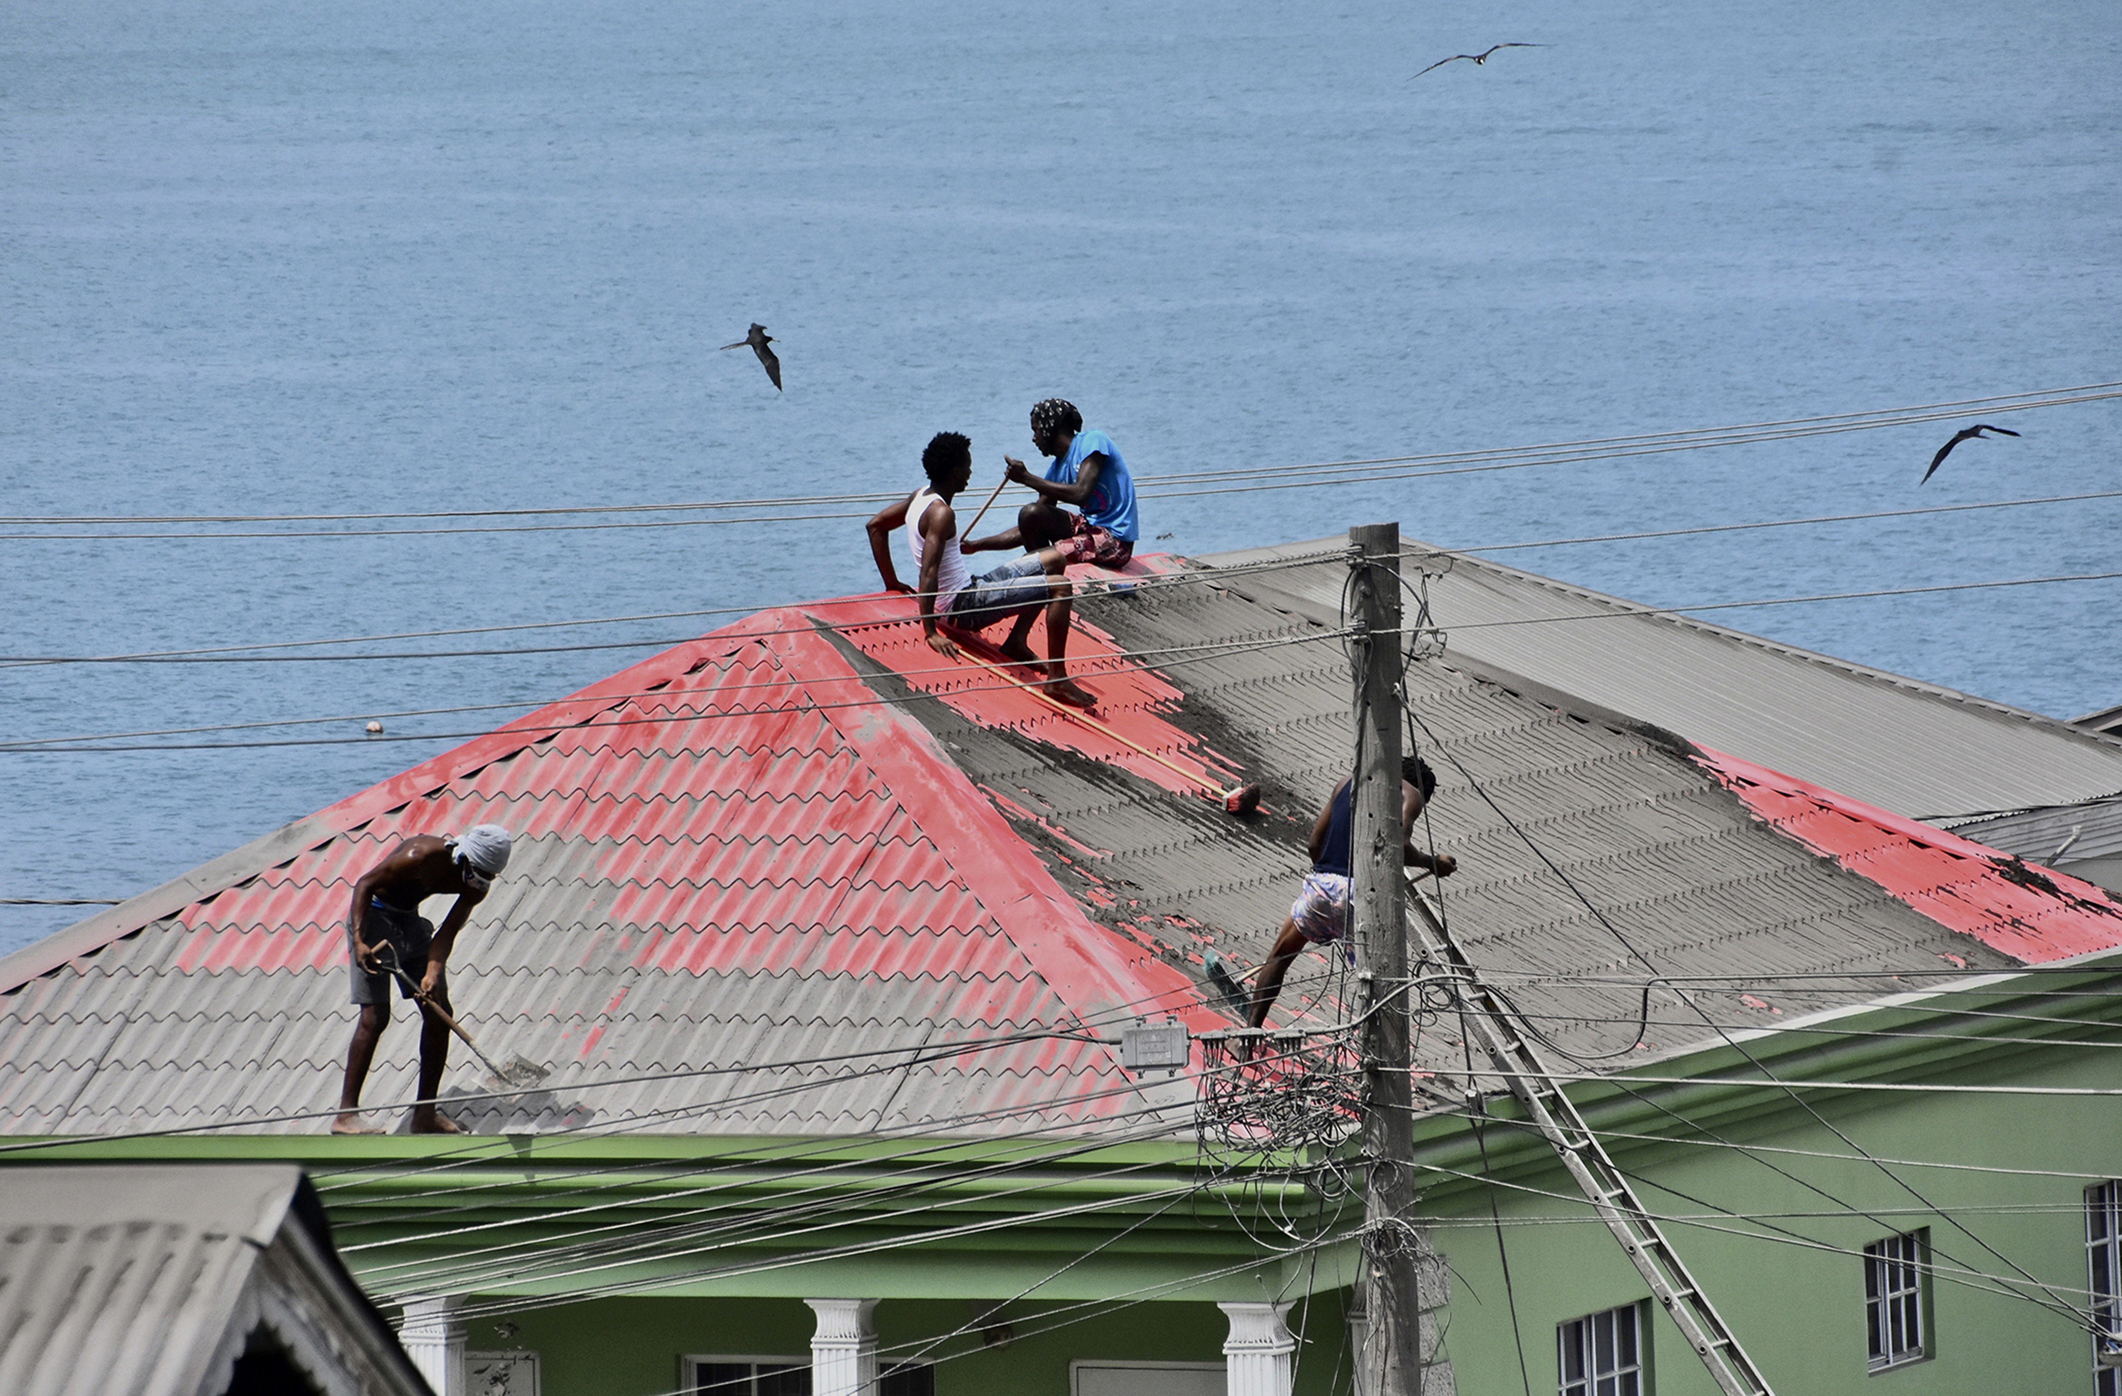
[[[1337,539],[1201,558],[1248,566]],[[1409,549],[1434,552],[1426,543]],[[1912,819],[2071,804],[2122,789],[2122,740],[1702,620],[1441,554],[1430,611],[1468,664],[1517,675],[1687,740]],[[1407,560],[1409,571],[1415,560]],[[1339,613],[1343,566],[1233,579],[1311,620]],[[1437,571],[1437,562],[1430,564]]]

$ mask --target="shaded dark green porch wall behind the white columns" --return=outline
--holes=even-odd
[[[879,1345],[887,1362],[912,1356],[985,1309],[976,1301],[887,1298],[874,1315]],[[1006,1347],[982,1345],[978,1334],[951,1339],[925,1358],[936,1362],[936,1396],[1067,1396],[1069,1362],[1078,1358],[1222,1362],[1229,1324],[1216,1305],[1144,1303],[1067,1322],[1078,1315],[1061,1305],[1012,1305],[1004,1315],[1014,1330]],[[1305,1339],[1299,1394],[1326,1396],[1337,1362],[1345,1388],[1341,1296],[1299,1303],[1288,1322]],[[501,1334],[497,1324],[514,1324],[516,1332]],[[683,1354],[804,1356],[813,1326],[811,1309],[796,1298],[601,1298],[482,1320],[469,1347],[535,1349],[545,1396],[651,1396],[677,1388]]]

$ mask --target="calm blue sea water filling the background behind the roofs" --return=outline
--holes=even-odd
[[[1498,40],[1551,47],[1409,81]],[[1161,473],[2116,380],[2118,72],[2107,0],[0,0],[4,511],[900,488],[944,426],[993,479],[1055,392]],[[751,320],[785,395],[715,352]],[[2024,439],[1918,492],[1954,424],[1144,522],[1184,552],[1375,518],[1477,545],[2122,488],[2122,403],[2005,418]],[[2109,571],[2116,503],[1509,560],[1664,605]],[[0,541],[13,656],[872,586],[853,522]],[[2075,715],[2122,702],[2118,598],[1734,615]],[[0,736],[543,700],[641,653],[0,668]],[[359,723],[248,736],[301,734]],[[129,895],[446,745],[0,753],[0,895]],[[0,950],[79,914],[0,908]]]

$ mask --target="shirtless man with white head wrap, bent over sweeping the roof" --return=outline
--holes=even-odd
[[[416,834],[401,840],[384,861],[354,883],[354,906],[346,917],[346,970],[354,984],[354,1004],[361,1006],[361,1020],[354,1025],[352,1046],[346,1048],[346,1084],[340,1090],[340,1118],[331,1122],[331,1133],[380,1133],[361,1122],[361,1082],[367,1080],[369,1063],[376,1059],[376,1040],[390,1020],[390,980],[397,980],[393,965],[420,984],[420,1095],[412,1107],[412,1133],[465,1133],[463,1124],[435,1110],[441,1069],[450,1061],[450,1029],[431,1006],[450,1012],[443,965],[450,963],[456,933],[465,929],[471,908],[486,900],[486,891],[507,866],[509,832],[499,823],[482,823],[450,838]],[[427,897],[456,897],[439,931],[420,917],[420,902]],[[416,997],[405,980],[399,980],[399,997]]]

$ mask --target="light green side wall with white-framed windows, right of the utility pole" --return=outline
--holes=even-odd
[[[2043,1052],[2012,1063],[2010,1080],[2046,1086],[2114,1086],[2114,1048]],[[1976,1080],[1976,1078],[1959,1078]],[[1681,1110],[1685,1114],[1685,1110]],[[1865,1152],[1903,1161],[1952,1161],[1997,1169],[2122,1175],[2122,1101],[2014,1095],[1842,1095],[1823,1114]],[[1507,1127],[1490,1127],[1498,1139]],[[1848,1154],[1823,1124],[1791,1112],[1721,1124],[1725,1139]],[[1918,1201],[1869,1163],[1725,1148],[1625,1146],[1617,1163],[1638,1175],[1645,1205],[1666,1216],[1666,1237],[1693,1267],[1717,1309],[1782,1396],[2092,1394],[2090,1339],[2029,1298],[1997,1294],[1995,1279],[1952,1275],[1954,1264],[2018,1279],[2012,1264],[2054,1286],[2065,1307],[2084,1305],[2084,1188],[2075,1177],[1897,1167]],[[1507,1173],[1519,1188],[1575,1194],[1560,1167]],[[1651,1182],[1645,1182],[1651,1180]],[[1812,1184],[1829,1194],[1812,1190]],[[1449,1258],[1447,1351],[1460,1396],[1524,1396],[1511,1330],[1515,1294],[1532,1392],[1555,1390],[1555,1326],[1649,1298],[1649,1288],[1606,1228],[1581,1203],[1494,1188],[1511,1284],[1498,1258],[1498,1226],[1485,1197],[1460,1192],[1434,1211],[1434,1243]],[[1723,1207],[1761,1216],[1744,1224]],[[1836,1214],[1848,1207],[1878,1220]],[[1963,1222],[1973,1237],[1954,1226]],[[1780,1226],[1793,1235],[1763,1233]],[[1935,1360],[1869,1375],[1865,1368],[1863,1260],[1806,1243],[1861,1250],[1897,1231],[1929,1228]],[[1984,1250],[2001,1252],[2003,1258]],[[1978,1288],[1980,1286],[1980,1288]],[[1702,1364],[1664,1318],[1651,1322],[1657,1396],[1710,1394]]]

